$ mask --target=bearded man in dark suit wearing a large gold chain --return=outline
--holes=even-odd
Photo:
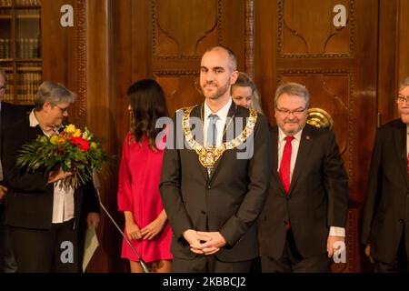
[[[173,119],[160,190],[174,231],[175,272],[249,272],[258,256],[255,220],[269,184],[268,122],[232,102],[237,75],[232,51],[208,49],[200,73],[205,102]]]

